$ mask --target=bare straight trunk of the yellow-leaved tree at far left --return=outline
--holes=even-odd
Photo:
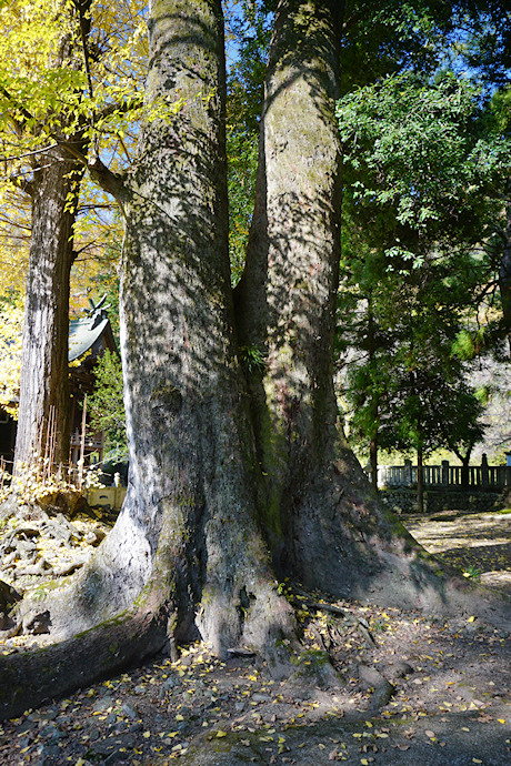
[[[63,149],[39,155],[30,184],[32,232],[27,279],[14,463],[44,456],[54,412],[56,464],[69,460],[69,275],[82,165]]]

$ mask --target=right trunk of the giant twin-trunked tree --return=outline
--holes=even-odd
[[[347,594],[378,587],[389,567],[367,541],[392,546],[385,512],[342,434],[332,382],[339,10],[333,1],[278,7],[237,318],[242,344],[265,353],[264,370],[247,374],[275,567]]]

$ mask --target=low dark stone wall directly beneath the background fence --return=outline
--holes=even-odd
[[[380,498],[394,513],[418,513],[417,490],[414,487],[392,487],[379,491]],[[441,511],[465,511],[481,513],[491,511],[502,497],[502,492],[479,487],[478,490],[462,490],[461,487],[441,487],[424,490],[424,512],[440,513]]]

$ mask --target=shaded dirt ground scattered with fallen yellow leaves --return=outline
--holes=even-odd
[[[510,588],[511,514],[405,524],[465,575]],[[221,663],[194,644],[177,663],[157,657],[0,724],[0,764],[511,763],[509,631],[470,614],[434,619],[282,587],[303,629],[290,678],[271,679],[251,656]],[[17,636],[0,645],[22,648]]]

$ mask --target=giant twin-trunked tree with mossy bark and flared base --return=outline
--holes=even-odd
[[[121,654],[101,654],[104,675],[140,659],[146,639],[156,651],[167,639],[193,637],[197,629],[220,655],[244,644],[274,659],[281,639],[293,638],[292,611],[279,596],[258,524],[264,472],[270,474],[265,526],[280,525],[274,536],[291,550],[281,566],[309,584],[339,593],[351,586],[351,595],[358,595],[357,578],[368,594],[372,584],[379,586],[387,560],[388,582],[405,592],[409,604],[419,606],[428,588],[448,601],[445,581],[419,561],[400,525],[392,527],[391,517],[384,517],[335,421],[335,7],[333,0],[283,1],[277,17],[263,120],[265,162],[241,294],[248,312],[243,342],[268,350],[262,381],[251,382],[253,412],[261,401],[264,405],[261,425],[252,417],[261,472],[246,412],[229,283],[220,0],[151,4],[148,99],[162,97],[172,104],[179,94],[182,108],[174,118],[144,127],[122,195],[130,486],[114,528],[82,574],[52,597],[22,604],[19,613],[28,625],[34,612],[48,609],[56,637],[79,642],[76,632],[84,631],[88,646],[98,651],[104,629],[121,624]],[[297,69],[300,58],[303,70]],[[302,124],[307,109],[312,115]],[[288,153],[288,144],[303,137],[302,149]],[[260,391],[264,399],[257,400]],[[277,502],[282,514],[272,507]],[[395,603],[393,596],[390,592],[388,603]],[[472,609],[470,599],[458,604],[468,603]],[[49,668],[60,652],[59,645],[48,647],[40,664],[11,661],[20,674],[0,675],[9,682],[0,686],[4,715],[16,704],[20,709],[14,682],[22,683],[28,669],[37,675],[39,667]],[[10,659],[1,658],[0,671]],[[96,672],[86,667],[84,654],[78,661],[80,685],[86,685]],[[66,688],[62,681],[58,692]]]

